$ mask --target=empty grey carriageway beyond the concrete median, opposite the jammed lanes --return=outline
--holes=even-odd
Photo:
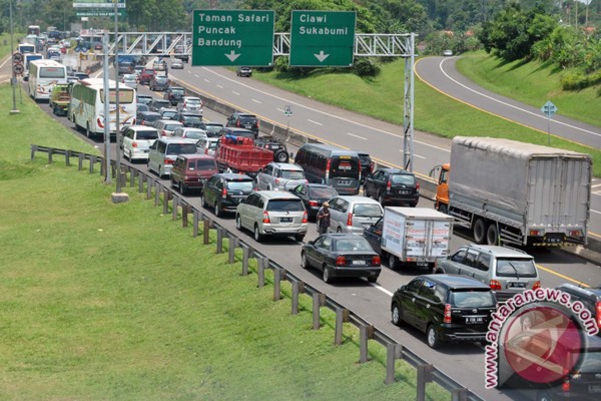
[[[324,142],[366,150],[384,164],[397,167],[403,164],[403,129],[400,126],[325,105],[253,79],[238,78],[227,69],[186,64],[184,70],[169,70],[169,75],[195,91],[282,126],[288,123],[284,105],[292,105],[291,129]],[[402,109],[391,112],[402,112]],[[416,131],[414,142],[414,170],[420,176],[426,177],[432,167],[449,161],[450,141],[447,138]],[[590,236],[601,240],[601,180],[593,180],[593,187],[588,231]]]

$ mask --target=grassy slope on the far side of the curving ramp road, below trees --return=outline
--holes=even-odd
[[[599,86],[581,91],[561,90],[561,76],[568,70],[557,64],[538,60],[506,63],[480,51],[460,58],[457,69],[495,93],[539,108],[551,100],[557,106],[558,114],[601,127]]]

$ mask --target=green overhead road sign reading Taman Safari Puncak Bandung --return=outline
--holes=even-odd
[[[194,10],[192,66],[271,66],[274,17],[264,10]]]

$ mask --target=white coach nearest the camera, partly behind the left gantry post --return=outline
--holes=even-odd
[[[78,129],[85,129],[85,135],[105,133],[105,91],[102,78],[88,78],[73,84],[69,120]],[[115,105],[115,81],[109,80],[109,123],[111,135],[115,135],[117,106]],[[119,85],[119,127],[136,123],[136,91],[126,85]]]

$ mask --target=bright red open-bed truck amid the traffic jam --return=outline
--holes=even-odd
[[[219,139],[215,158],[221,171],[255,177],[259,170],[273,161],[273,152],[255,146],[252,138],[224,136]]]

